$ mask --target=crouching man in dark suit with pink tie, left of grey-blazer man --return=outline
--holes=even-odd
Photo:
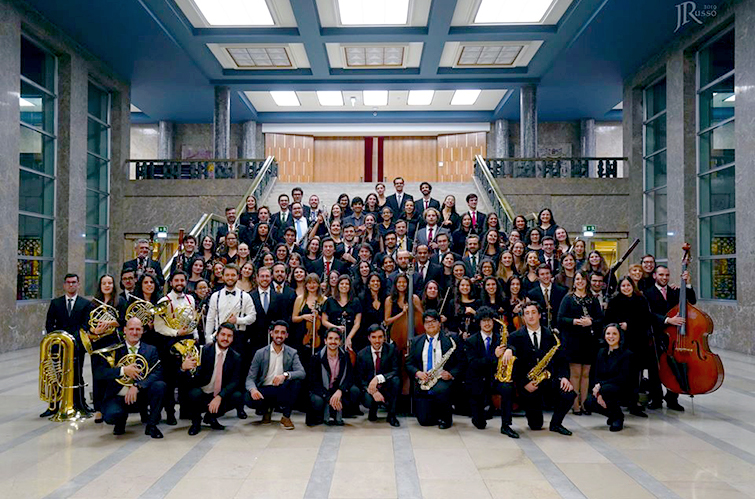
[[[241,356],[228,348],[235,332],[233,324],[221,324],[215,343],[202,349],[199,365],[197,359],[191,357],[181,363],[183,381],[188,389],[182,405],[191,418],[189,435],[202,431],[202,413],[205,413],[204,422],[210,428],[222,430],[225,427],[218,422],[219,416],[231,409],[239,413],[243,411]],[[241,419],[246,419],[246,413]]]

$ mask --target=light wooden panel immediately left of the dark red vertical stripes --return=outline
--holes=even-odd
[[[364,176],[364,137],[315,137],[313,182],[359,182]]]

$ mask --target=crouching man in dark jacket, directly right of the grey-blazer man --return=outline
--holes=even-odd
[[[307,426],[316,426],[323,421],[329,426],[343,426],[344,407],[353,407],[359,400],[353,369],[349,357],[341,349],[341,330],[328,329],[325,348],[310,360]]]

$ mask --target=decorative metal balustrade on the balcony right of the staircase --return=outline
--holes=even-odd
[[[628,169],[627,158],[487,158],[485,162],[494,178],[617,178],[626,176]]]

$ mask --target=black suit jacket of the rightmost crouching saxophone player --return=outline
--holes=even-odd
[[[556,339],[553,333],[547,327],[540,328],[540,338],[538,338],[538,349],[532,345],[532,338],[527,332],[527,326],[522,326],[517,329],[508,339],[508,345],[512,350],[516,352],[516,360],[514,361],[514,382],[519,387],[523,387],[529,383],[527,373],[530,369],[540,362],[546,353],[556,344]],[[566,361],[564,355],[563,342],[561,346],[556,350],[556,354],[548,363],[547,371],[550,371],[551,378],[559,380],[561,378],[569,379],[569,364]]]

